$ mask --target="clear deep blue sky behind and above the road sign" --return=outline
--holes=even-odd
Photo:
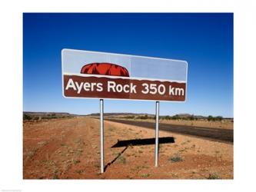
[[[98,113],[99,101],[62,96],[62,48],[188,61],[185,103],[160,114],[233,117],[233,14],[23,15],[23,110]],[[155,113],[153,101],[105,100],[105,112]]]

